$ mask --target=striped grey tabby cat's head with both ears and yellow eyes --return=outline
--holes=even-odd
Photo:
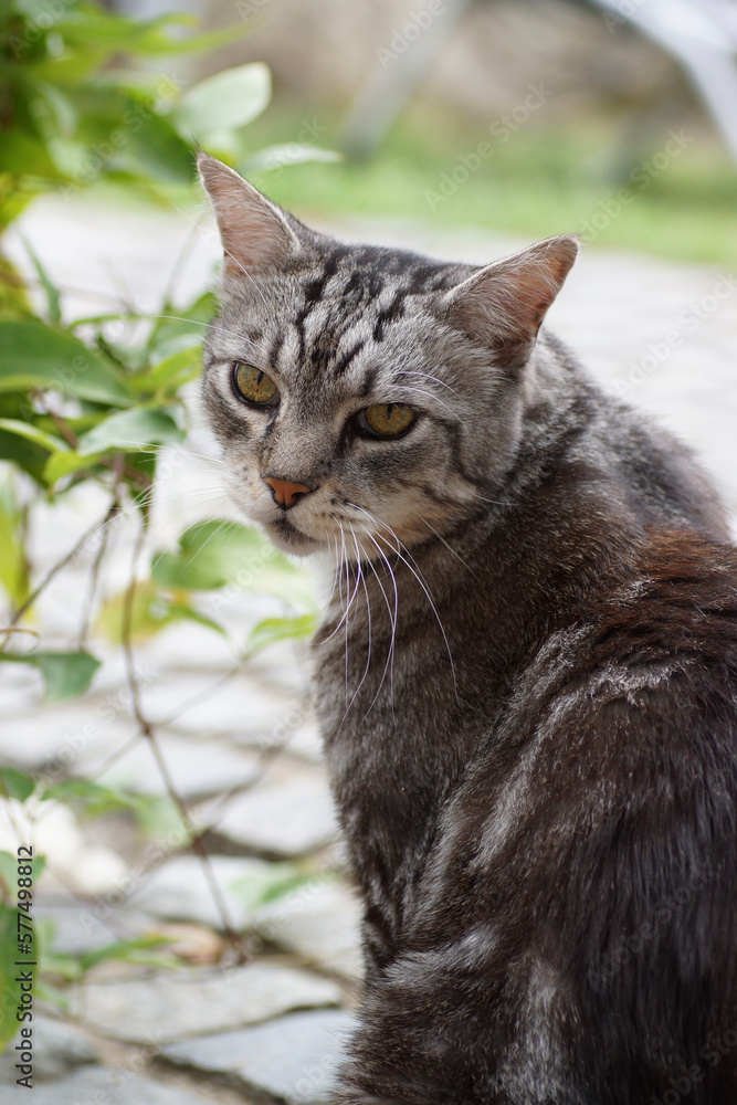
[[[199,168],[225,257],[203,394],[238,505],[282,548],[351,559],[476,514],[512,464],[576,239],[483,269],[346,245]]]

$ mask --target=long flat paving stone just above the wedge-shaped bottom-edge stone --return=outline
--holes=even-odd
[[[338,987],[326,979],[276,964],[252,962],[81,985],[72,1010],[105,1035],[160,1046],[253,1024],[292,1009],[334,1006],[338,1000]]]

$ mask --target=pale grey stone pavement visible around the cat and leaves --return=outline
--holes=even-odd
[[[122,286],[155,309],[191,229],[178,213],[60,201],[39,203],[23,222],[51,273],[83,290],[72,299],[75,312],[98,308],[96,297],[116,296]],[[480,263],[524,244],[386,221],[335,229]],[[207,284],[218,255],[211,236],[194,238],[192,246],[180,275],[182,302]],[[733,514],[736,280],[707,266],[589,249],[549,319],[608,387],[653,410],[698,449]],[[189,449],[183,464],[170,465],[157,501],[156,547],[199,518],[234,516],[218,496],[218,475],[206,459],[214,451],[201,422]],[[39,512],[38,571],[73,546],[99,505],[87,491]],[[131,539],[123,524],[103,594],[125,582]],[[50,646],[69,644],[88,566],[88,557],[77,558],[40,604]],[[242,639],[245,625],[273,609],[271,600],[240,594],[221,613]],[[97,640],[94,648],[105,662],[91,692],[53,708],[40,705],[33,671],[0,667],[0,762],[32,772],[63,764],[69,774],[164,796],[149,746],[130,744],[136,725],[119,653]],[[158,824],[141,836],[123,813],[83,822],[66,809],[41,810],[33,833],[49,867],[38,913],[53,925],[56,949],[80,954],[160,934],[175,940],[180,968],[104,961],[71,988],[64,1014],[44,1007],[34,1024],[33,1103],[324,1102],[352,1024],[358,905],[344,873],[298,650],[278,646],[233,673],[224,642],[178,624],[137,649],[137,664],[176,786],[192,815],[211,827],[211,875],[249,961],[230,956],[206,871],[199,859],[181,854],[176,827]],[[14,849],[2,810],[0,848]],[[13,1063],[12,1050],[0,1056],[8,1105],[25,1101],[12,1086]]]

